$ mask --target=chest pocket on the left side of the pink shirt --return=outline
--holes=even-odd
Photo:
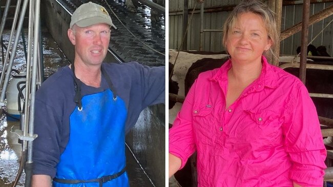
[[[193,128],[199,144],[212,146],[215,138],[214,129],[218,124],[218,119],[214,116],[213,111],[214,106],[212,105],[200,105],[193,108]]]

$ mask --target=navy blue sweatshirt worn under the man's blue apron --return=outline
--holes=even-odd
[[[128,112],[126,132],[136,123],[140,112],[151,105],[165,101],[165,67],[142,66],[136,62],[103,63],[117,95],[124,100]],[[99,88],[81,84],[81,95],[90,95],[109,89],[102,76]],[[33,174],[54,178],[56,165],[69,139],[69,117],[74,111],[73,72],[67,66],[50,76],[36,92],[33,141]],[[79,154],[79,153],[78,153]]]

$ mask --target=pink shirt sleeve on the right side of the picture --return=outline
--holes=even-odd
[[[322,186],[326,150],[316,108],[305,86],[292,96],[287,110],[284,146],[293,162],[289,177],[301,186]]]

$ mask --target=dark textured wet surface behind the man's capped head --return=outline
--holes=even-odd
[[[165,20],[162,14],[152,18],[150,8],[143,5],[137,7],[136,12],[129,12],[124,5],[124,0],[107,0],[107,3],[98,0],[58,1],[71,13],[84,3],[94,2],[102,5],[108,10],[113,24],[117,27],[116,30],[112,29],[111,32],[109,47],[112,51],[125,62],[134,60],[147,66],[165,65],[165,56],[160,54],[165,54]],[[140,41],[150,48],[144,46]]]

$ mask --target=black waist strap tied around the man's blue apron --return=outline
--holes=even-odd
[[[98,182],[99,187],[103,186],[103,183],[108,182],[110,180],[113,180],[120,175],[122,175],[125,172],[125,168],[123,168],[120,172],[113,174],[113,175],[108,175],[108,176],[103,176],[97,179],[91,179],[91,180],[70,180],[70,179],[58,179],[54,178],[53,181],[59,182],[59,183],[64,183],[64,184],[78,184],[78,183],[88,183],[88,182]]]

